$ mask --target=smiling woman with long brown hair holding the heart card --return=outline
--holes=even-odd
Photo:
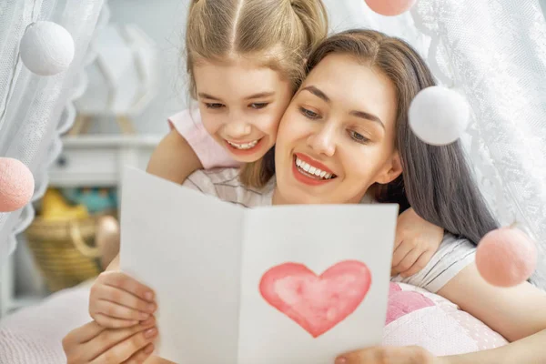
[[[422,217],[450,232],[427,267],[407,281],[450,299],[513,341],[441,358],[425,348],[368,348],[340,355],[339,363],[546,362],[546,293],[527,282],[491,287],[475,266],[471,242],[497,224],[460,145],[430,147],[410,133],[410,101],[434,85],[420,56],[397,39],[355,30],[320,45],[309,57],[308,71],[278,130],[275,179],[251,191],[237,183],[236,171],[226,169],[197,172],[185,185],[248,207],[382,201],[404,192]],[[270,170],[268,158],[263,173]],[[106,349],[99,340],[86,345]]]

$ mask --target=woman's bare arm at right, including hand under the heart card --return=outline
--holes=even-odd
[[[512,342],[446,357],[434,357],[420,347],[379,346],[342,354],[336,364],[546,363],[546,292],[527,282],[514,288],[490,286],[471,263],[438,293]]]

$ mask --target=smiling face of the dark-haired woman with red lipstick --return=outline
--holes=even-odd
[[[394,85],[347,55],[326,56],[292,99],[278,128],[275,204],[358,203],[401,167]]]

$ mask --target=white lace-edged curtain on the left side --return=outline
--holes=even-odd
[[[84,66],[96,25],[106,22],[105,0],[0,1],[0,157],[14,157],[35,177],[33,200],[47,186],[47,167],[61,150],[59,135],[74,120],[72,100],[86,87]],[[101,13],[102,10],[102,13]],[[37,20],[62,25],[75,41],[75,58],[56,76],[36,76],[22,65],[19,41],[25,28]],[[15,70],[15,72],[14,72]],[[15,248],[15,235],[34,217],[32,204],[12,213],[0,213],[0,266]]]

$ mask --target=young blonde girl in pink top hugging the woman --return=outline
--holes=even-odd
[[[261,187],[268,178],[254,162],[272,154],[278,121],[304,76],[305,58],[327,34],[324,5],[320,0],[199,0],[191,3],[187,19],[187,72],[199,111],[169,119],[173,130],[147,171],[182,183],[198,168],[238,162],[244,163],[241,182]],[[397,202],[402,210],[409,207],[406,200]],[[393,275],[417,273],[442,237],[442,228],[411,208],[402,213]],[[118,257],[108,270],[117,267]],[[145,297],[127,296],[120,279],[125,278],[106,272],[91,291],[91,316],[105,327],[133,325],[155,309]]]

